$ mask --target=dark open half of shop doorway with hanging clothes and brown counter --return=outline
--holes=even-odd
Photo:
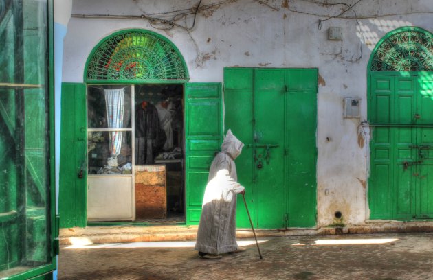
[[[181,85],[135,86],[137,221],[185,220],[183,93]]]

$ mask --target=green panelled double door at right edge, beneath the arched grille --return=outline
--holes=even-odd
[[[370,80],[370,218],[433,218],[433,74]]]

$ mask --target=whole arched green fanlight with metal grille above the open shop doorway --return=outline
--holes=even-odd
[[[129,40],[126,40],[123,42],[124,37],[123,36],[131,36],[133,35],[133,38],[128,38]],[[138,36],[138,37],[134,37]],[[120,60],[118,62],[117,66],[116,61],[111,61],[111,58],[104,58],[106,60],[106,65],[97,65],[94,66],[97,67],[97,69],[105,68],[107,71],[113,72],[113,68],[118,67],[117,69],[114,69],[115,73],[120,73],[120,78],[89,78],[89,70],[92,65],[93,58],[98,55],[99,57],[103,56],[104,54],[98,54],[98,52],[105,52],[107,54],[110,54],[111,51],[111,57],[115,56],[119,51],[118,45],[115,47],[111,47],[111,49],[107,49],[107,46],[105,43],[109,40],[118,40],[118,45],[123,44],[124,49],[126,49],[126,53],[128,56],[120,56],[115,57],[115,59],[124,59]],[[131,43],[131,40],[134,41],[134,43]],[[157,45],[156,51],[157,54],[154,54],[151,49],[146,48],[149,44],[148,41],[151,41],[152,43],[163,43],[164,46],[161,44],[154,44]],[[138,45],[138,46],[137,46]],[[145,45],[145,46],[143,46]],[[156,74],[147,74],[146,67],[144,65],[150,65],[151,67],[157,67],[157,62],[159,61],[158,58],[164,56],[164,58],[171,57],[175,61],[175,64],[177,65],[178,72],[173,73],[173,75],[170,75],[170,77],[164,77],[164,75],[156,75]],[[173,60],[172,59],[172,60]],[[150,60],[150,62],[147,62],[147,60]],[[124,63],[125,62],[125,63]],[[171,63],[171,65],[170,65]],[[124,66],[128,64],[129,66]],[[173,68],[173,63],[165,60],[159,61],[159,70],[166,67]],[[129,71],[130,69],[135,69],[139,71],[135,71],[137,75],[126,73],[126,71]],[[111,69],[111,70],[110,70]],[[103,70],[105,71],[105,70]],[[111,75],[111,74],[110,74]],[[142,76],[143,78],[140,78]],[[127,78],[124,78],[127,77]],[[129,30],[122,30],[119,32],[114,32],[113,34],[105,37],[96,45],[96,47],[93,48],[91,53],[89,54],[87,58],[87,62],[85,65],[85,73],[84,73],[84,79],[85,83],[122,83],[122,84],[161,84],[162,82],[166,84],[182,84],[184,82],[188,82],[189,80],[189,74],[188,74],[188,68],[186,67],[186,63],[184,60],[184,57],[181,55],[179,49],[171,43],[170,40],[165,38],[164,36],[157,34],[155,32],[151,32],[148,30],[140,30],[140,29],[129,29]]]

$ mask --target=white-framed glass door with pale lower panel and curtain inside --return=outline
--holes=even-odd
[[[133,86],[87,89],[87,220],[135,219]]]

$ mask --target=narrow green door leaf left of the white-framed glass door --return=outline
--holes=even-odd
[[[87,224],[86,108],[85,84],[63,83],[58,198],[62,228]]]

